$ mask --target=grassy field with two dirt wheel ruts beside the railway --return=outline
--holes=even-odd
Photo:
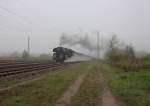
[[[124,71],[93,61],[0,92],[0,106],[62,105],[150,106],[150,70]]]

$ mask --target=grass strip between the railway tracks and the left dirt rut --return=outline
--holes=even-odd
[[[0,93],[0,106],[52,106],[86,68],[74,65],[24,86]]]

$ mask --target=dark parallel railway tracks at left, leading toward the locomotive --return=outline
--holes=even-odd
[[[53,63],[49,61],[0,61],[0,78],[21,73],[38,72],[43,69],[54,69],[70,63]]]

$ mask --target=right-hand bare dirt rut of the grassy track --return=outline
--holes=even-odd
[[[101,83],[103,86],[103,91],[101,95],[101,105],[100,106],[118,106],[118,102],[112,95],[111,90],[106,85],[105,79],[102,74],[100,74]]]

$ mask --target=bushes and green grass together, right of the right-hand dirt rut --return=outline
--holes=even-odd
[[[150,55],[137,55],[132,45],[110,39],[105,62],[99,63],[108,86],[123,106],[150,106]]]

